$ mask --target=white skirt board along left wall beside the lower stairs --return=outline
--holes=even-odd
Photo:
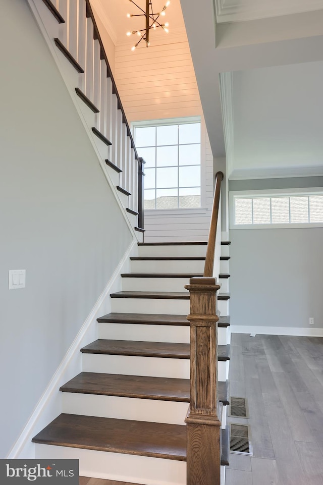
[[[109,282],[107,282],[104,290],[97,299],[90,314],[84,321],[84,324],[79,330],[60,366],[52,376],[47,388],[43,392],[27,424],[22,430],[22,433],[20,434],[16,443],[10,450],[7,458],[28,459],[35,457],[35,448],[31,440],[34,435],[36,435],[44,426],[46,426],[62,412],[62,396],[59,389],[63,384],[81,372],[82,355],[80,349],[84,345],[87,345],[88,343],[97,339],[98,326],[96,318],[101,316],[102,313],[111,311],[111,299],[109,295],[112,291],[118,291],[121,289],[120,273],[122,273],[125,266],[129,264],[129,256],[133,252],[133,248],[136,245],[137,240],[133,240]]]

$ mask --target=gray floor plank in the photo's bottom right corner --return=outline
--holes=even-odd
[[[310,485],[323,483],[323,455],[316,443],[295,442],[300,462]]]

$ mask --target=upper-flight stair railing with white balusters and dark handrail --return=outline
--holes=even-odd
[[[143,224],[139,190],[144,161],[138,156],[91,4],[89,0],[42,1],[59,23],[57,47],[79,72],[76,92],[95,113],[92,131],[107,145],[107,165],[120,174],[118,190],[129,194],[127,209],[139,213]]]

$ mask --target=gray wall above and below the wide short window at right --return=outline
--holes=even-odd
[[[231,190],[322,186],[322,177],[231,181]],[[230,231],[232,325],[323,328],[323,228]]]

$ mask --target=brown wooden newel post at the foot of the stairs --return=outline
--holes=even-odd
[[[187,485],[220,485],[216,278],[191,278],[191,401],[187,423]]]

